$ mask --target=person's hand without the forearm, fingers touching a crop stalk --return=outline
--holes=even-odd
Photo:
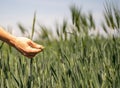
[[[44,49],[42,45],[38,45],[32,40],[24,37],[16,37],[14,47],[28,58],[34,57]]]

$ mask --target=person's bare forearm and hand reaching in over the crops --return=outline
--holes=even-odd
[[[37,53],[43,51],[44,47],[25,37],[15,37],[0,27],[0,40],[16,48],[28,58],[33,58]]]

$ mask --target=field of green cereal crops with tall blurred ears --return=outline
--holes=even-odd
[[[76,6],[70,8],[72,24],[55,25],[56,37],[46,26],[34,29],[34,16],[34,41],[45,49],[30,63],[0,42],[0,88],[120,88],[120,38],[107,30],[119,34],[120,9],[114,7],[106,4],[104,11],[101,27],[107,37],[90,36],[90,29],[96,29],[92,14]],[[25,28],[19,28],[24,34]]]

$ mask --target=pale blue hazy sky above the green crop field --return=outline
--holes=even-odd
[[[70,6],[75,4],[85,13],[92,12],[97,23],[103,13],[106,0],[0,0],[0,26],[12,28],[14,34],[19,30],[18,23],[31,28],[34,12],[37,23],[53,27],[63,19],[70,20]],[[120,0],[113,0],[118,3]]]

